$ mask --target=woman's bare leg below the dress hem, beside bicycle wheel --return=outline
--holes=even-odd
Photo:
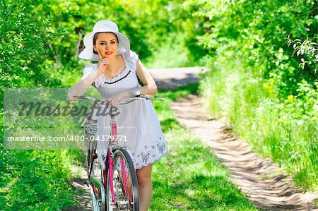
[[[139,184],[139,210],[147,211],[151,203],[151,195],[153,193],[153,183],[151,181],[151,169],[153,164],[136,170]]]

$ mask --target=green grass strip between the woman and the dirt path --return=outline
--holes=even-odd
[[[153,166],[151,210],[257,210],[237,186],[220,160],[199,138],[179,126],[170,104],[195,93],[198,85],[160,92],[154,102],[169,152]]]

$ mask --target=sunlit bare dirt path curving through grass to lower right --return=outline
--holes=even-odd
[[[230,171],[230,179],[262,210],[318,210],[311,202],[318,195],[298,193],[290,176],[280,174],[270,159],[258,157],[247,143],[235,138],[228,126],[211,119],[196,95],[172,104],[178,121],[199,135]]]

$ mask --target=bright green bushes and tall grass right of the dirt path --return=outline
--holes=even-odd
[[[201,93],[255,150],[317,190],[317,2],[186,1],[204,17],[201,44],[211,71]],[[288,37],[307,37],[305,42]],[[294,49],[288,47],[293,43]],[[294,52],[295,50],[295,52]],[[302,65],[295,53],[305,56]]]

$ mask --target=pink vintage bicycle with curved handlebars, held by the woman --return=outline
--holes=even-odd
[[[126,98],[114,106],[109,102],[97,100],[90,96],[74,96],[79,100],[90,100],[94,102],[91,109],[110,107],[110,144],[107,148],[107,156],[103,157],[103,164],[98,160],[96,150],[97,120],[90,116],[84,124],[86,135],[86,169],[92,196],[93,210],[139,210],[139,188],[134,164],[126,151],[117,140],[117,123],[115,116],[120,112],[118,106],[128,104],[135,100],[163,100],[140,93],[132,98]],[[92,110],[91,110],[92,111]],[[92,112],[93,114],[93,112]]]

